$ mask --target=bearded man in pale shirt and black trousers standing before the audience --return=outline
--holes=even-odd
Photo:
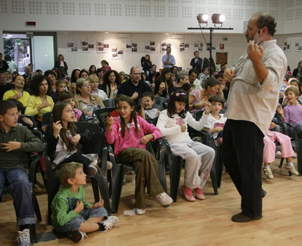
[[[247,51],[223,74],[230,81],[223,162],[242,201],[242,212],[232,216],[235,222],[262,217],[263,136],[275,114],[287,70],[287,58],[273,39],[275,27],[270,15],[252,15],[245,32]]]

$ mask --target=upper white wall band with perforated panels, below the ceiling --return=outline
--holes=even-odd
[[[287,0],[288,1],[288,0]],[[291,0],[294,1],[294,0]],[[242,33],[252,13],[284,20],[283,0],[1,0],[0,22],[11,31],[191,32],[198,13],[224,13],[224,27]],[[299,4],[300,1],[298,0]],[[294,6],[296,8],[296,0]],[[13,21],[8,21],[13,20]],[[25,27],[36,21],[37,27]],[[211,21],[210,21],[211,22]],[[282,27],[282,25],[280,25]],[[282,34],[283,28],[278,29]]]

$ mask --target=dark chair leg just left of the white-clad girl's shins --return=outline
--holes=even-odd
[[[176,202],[178,195],[178,187],[180,183],[181,166],[183,159],[181,157],[173,157],[173,160],[169,162],[170,173],[170,196],[173,202]]]

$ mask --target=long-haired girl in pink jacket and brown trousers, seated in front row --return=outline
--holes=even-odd
[[[108,117],[105,130],[107,143],[114,144],[119,162],[132,164],[136,172],[136,214],[145,214],[145,186],[149,195],[162,205],[169,205],[172,198],[159,183],[157,160],[146,150],[146,144],[162,136],[159,129],[136,115],[135,103],[129,96],[119,100],[119,117]],[[147,135],[144,135],[147,134]]]

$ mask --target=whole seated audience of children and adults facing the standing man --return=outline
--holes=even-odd
[[[143,186],[154,187],[147,191],[162,205],[171,203],[171,198],[164,193],[159,183],[157,171],[153,167],[157,164],[154,156],[141,149],[145,149],[145,144],[148,141],[160,136],[169,141],[174,155],[180,155],[185,158],[186,163],[189,163],[185,166],[185,173],[187,174],[185,186],[183,186],[185,199],[191,202],[195,198],[205,199],[202,188],[209,176],[209,170],[214,160],[214,150],[201,143],[196,143],[195,146],[194,141],[188,136],[187,129],[188,125],[197,130],[203,128],[213,135],[217,145],[221,145],[225,118],[220,112],[225,105],[225,99],[228,98],[230,83],[225,84],[223,79],[225,64],[221,65],[221,70],[219,72],[217,70],[217,76],[214,77],[209,75],[207,59],[204,59],[204,67],[202,67],[201,58],[195,56],[192,61],[196,62],[196,59],[201,60],[201,63],[199,65],[191,64],[193,68],[188,74],[185,71],[178,74],[178,67],[175,65],[164,67],[159,73],[157,66],[152,64],[149,55],[146,55],[144,59],[142,58],[144,72],[141,72],[140,67],[131,67],[129,75],[122,71],[112,70],[107,61],[102,60],[102,67],[100,68],[95,65],[91,65],[89,70],[74,68],[69,78],[67,77],[67,63],[65,63],[63,55],[58,57],[56,69],[46,70],[44,75],[41,75],[41,70],[33,72],[31,66],[25,67],[24,75],[19,75],[18,71],[0,71],[0,97],[3,100],[0,101],[0,134],[1,132],[4,135],[7,134],[5,138],[9,141],[11,135],[8,133],[12,130],[25,133],[25,136],[22,135],[20,139],[18,137],[18,144],[1,143],[6,150],[9,150],[9,155],[13,156],[11,160],[8,160],[6,155],[1,154],[0,156],[0,195],[4,186],[4,177],[11,179],[11,176],[17,175],[11,174],[13,170],[22,172],[22,182],[18,183],[17,189],[13,191],[17,193],[21,189],[19,186],[24,186],[22,190],[26,195],[26,198],[22,197],[22,202],[15,206],[18,226],[20,226],[19,239],[28,235],[30,224],[35,224],[32,194],[28,192],[32,184],[29,183],[27,174],[25,177],[24,173],[24,165],[27,164],[25,155],[27,152],[41,151],[44,148],[41,141],[32,136],[27,129],[33,129],[36,124],[41,129],[41,119],[46,112],[53,112],[53,123],[48,126],[46,131],[51,161],[57,165],[58,169],[61,166],[64,168],[70,166],[67,169],[71,170],[65,176],[62,174],[63,171],[59,174],[65,188],[58,192],[53,200],[53,226],[56,229],[64,229],[71,240],[82,239],[86,232],[106,231],[117,224],[118,219],[113,217],[110,219],[110,216],[107,217],[105,209],[101,209],[102,201],[95,205],[85,202],[82,188],[82,185],[86,183],[86,174],[98,174],[101,148],[105,138],[107,138],[108,143],[115,146],[114,151],[119,160],[129,161],[129,149],[137,152],[136,160],[133,160],[133,163],[129,162],[133,164],[138,176],[135,193],[136,214],[145,214]],[[298,75],[301,75],[299,73],[301,64],[299,63],[298,68],[294,70],[295,75],[297,71]],[[64,68],[66,74],[60,68]],[[292,77],[289,70],[286,78],[288,82],[284,81],[284,88],[280,89],[280,103],[284,108],[280,106],[277,112],[284,122],[294,127],[302,122],[300,113],[302,112],[301,86],[298,78]],[[168,108],[164,110],[162,105],[156,105],[155,97],[164,97],[169,102]],[[96,134],[98,140],[95,137],[88,142],[84,136],[77,133],[73,122],[92,120],[93,111],[98,108],[105,108],[103,101],[107,99],[114,99],[116,110],[113,110],[107,118],[105,138]],[[135,105],[138,105],[139,99],[141,101],[140,112],[136,112]],[[198,110],[205,110],[205,112],[202,119],[196,122],[191,112],[194,113]],[[14,115],[14,120],[10,121],[4,117],[10,113]],[[26,116],[20,117],[22,113],[33,116],[36,122],[32,122]],[[157,123],[158,117],[159,122]],[[156,123],[158,128],[155,127]],[[22,128],[21,125],[24,127]],[[45,132],[46,128],[42,129]],[[147,135],[143,136],[144,133]],[[289,136],[294,137],[293,129],[290,130]],[[267,179],[273,179],[270,162],[275,160],[274,141],[279,141],[281,144],[281,155],[287,160],[286,168],[292,174],[298,175],[292,162],[294,151],[291,148],[289,136],[275,131],[268,131],[267,136],[265,136],[263,171]],[[127,142],[126,138],[128,137],[131,138],[131,143]],[[190,146],[179,143],[179,139],[185,143],[190,143]],[[86,145],[85,154],[80,153],[77,149],[79,143]],[[125,148],[121,147],[121,144]],[[23,148],[23,145],[28,147]],[[4,151],[2,153],[4,154]],[[20,153],[20,155],[17,156],[14,153]],[[142,158],[147,160],[144,163],[146,167],[140,167]],[[202,160],[201,164],[199,161],[193,161],[195,159]],[[65,165],[63,164],[65,162],[70,163]],[[194,165],[189,168],[190,163],[193,162]],[[107,163],[108,166],[110,163]],[[140,169],[145,168],[150,169],[150,179],[146,180],[145,183],[140,183],[141,181],[138,179],[145,175],[140,173]],[[80,176],[81,180],[79,181],[78,177]],[[200,179],[201,176],[202,179]],[[59,201],[58,199],[73,192],[72,190],[75,190],[76,193],[81,190],[83,202],[72,204],[74,217],[73,219],[66,219],[67,212],[64,210],[61,213],[61,207],[58,208],[58,206],[62,200]],[[192,190],[195,190],[195,193],[192,193]],[[14,196],[14,204],[16,198],[18,195]],[[78,198],[75,197],[75,199]],[[28,219],[22,219],[25,207],[29,209]],[[95,219],[91,220],[92,217]],[[79,229],[75,231],[72,228],[74,219],[79,224]],[[72,231],[73,233],[71,233]]]

